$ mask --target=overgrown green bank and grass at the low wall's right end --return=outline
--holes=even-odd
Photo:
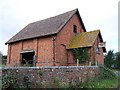
[[[100,68],[100,73],[98,76],[94,78],[87,78],[85,82],[77,82],[75,85],[67,86],[67,88],[86,88],[86,89],[102,88],[103,89],[103,88],[117,88],[118,85],[120,86],[120,83],[118,83],[118,80],[120,80],[120,76],[117,77],[112,70],[104,66],[99,66],[99,68]],[[64,86],[62,87],[64,88]]]

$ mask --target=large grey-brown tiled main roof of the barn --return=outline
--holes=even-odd
[[[78,17],[82,23],[82,27],[83,29],[85,29],[78,9],[75,9],[57,15],[55,17],[28,24],[25,28],[23,28],[20,32],[13,36],[8,42],[6,42],[6,44],[46,35],[57,34],[75,13],[78,14]]]

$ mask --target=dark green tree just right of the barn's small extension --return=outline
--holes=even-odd
[[[108,53],[105,55],[104,64],[108,68],[114,67],[114,61],[115,61],[115,55],[113,53],[113,50],[109,50]]]

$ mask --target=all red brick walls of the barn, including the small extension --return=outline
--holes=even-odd
[[[33,50],[36,57],[36,66],[74,66],[76,65],[73,53],[67,50],[67,45],[76,34],[73,26],[77,26],[77,33],[84,32],[78,14],[74,14],[56,35],[37,37],[8,44],[7,66],[20,66],[22,51]],[[104,63],[103,50],[96,54],[99,37],[94,45],[89,48],[90,60]]]

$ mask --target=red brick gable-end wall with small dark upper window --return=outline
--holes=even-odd
[[[71,38],[75,35],[73,32],[73,25],[77,26],[77,32],[83,32],[82,26],[78,19],[78,16],[75,14],[69,22],[64,26],[63,30],[61,30],[56,37],[56,48],[55,48],[55,60],[57,65],[66,65],[67,55],[65,46],[70,43]],[[63,45],[61,45],[63,44]],[[65,46],[64,46],[65,45]],[[68,52],[69,63],[73,63],[73,57],[71,52]]]

